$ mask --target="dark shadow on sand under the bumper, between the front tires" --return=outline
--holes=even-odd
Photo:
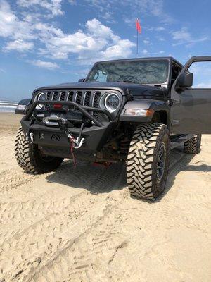
[[[46,176],[51,183],[66,185],[68,188],[87,189],[92,194],[121,190],[126,183],[126,166],[112,164],[109,167],[95,166],[88,161],[64,161],[62,166]]]

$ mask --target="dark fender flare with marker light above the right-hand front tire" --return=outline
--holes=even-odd
[[[130,116],[125,115],[126,109],[145,109],[152,110],[148,116]],[[135,99],[127,102],[120,114],[120,121],[148,123],[153,119],[155,112],[165,112],[167,115],[167,126],[170,126],[170,106],[167,101],[152,100],[152,99]]]

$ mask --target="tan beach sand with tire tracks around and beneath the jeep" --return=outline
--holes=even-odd
[[[129,196],[122,165],[24,173],[18,119],[0,115],[0,281],[210,281],[211,135],[196,156],[172,151],[150,203]]]

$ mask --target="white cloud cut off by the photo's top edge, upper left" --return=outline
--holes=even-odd
[[[61,9],[62,0],[18,0],[17,4],[24,8],[29,7],[40,7],[45,8],[51,16],[63,15],[63,11]]]

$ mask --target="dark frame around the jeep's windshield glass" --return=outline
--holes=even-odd
[[[89,81],[89,77],[91,76],[91,73],[94,69],[94,67],[96,65],[98,65],[98,63],[115,63],[115,62],[121,62],[121,61],[168,61],[168,71],[167,71],[167,80],[165,82],[162,82],[162,83],[139,83],[139,82],[134,82],[136,84],[139,84],[139,85],[157,85],[157,86],[160,86],[160,85],[169,85],[170,83],[170,75],[171,75],[171,63],[172,63],[172,58],[171,57],[159,57],[159,58],[156,58],[156,57],[150,57],[150,58],[140,58],[140,59],[120,59],[120,60],[110,60],[110,61],[98,61],[94,64],[94,66],[91,68],[91,70],[89,71],[89,73],[87,74],[87,77],[85,78],[85,81],[86,82],[96,82],[96,83],[113,83],[113,82],[98,82],[98,81]],[[120,81],[119,81],[120,82]],[[124,82],[122,82],[124,83]],[[127,82],[126,82],[127,83]]]

